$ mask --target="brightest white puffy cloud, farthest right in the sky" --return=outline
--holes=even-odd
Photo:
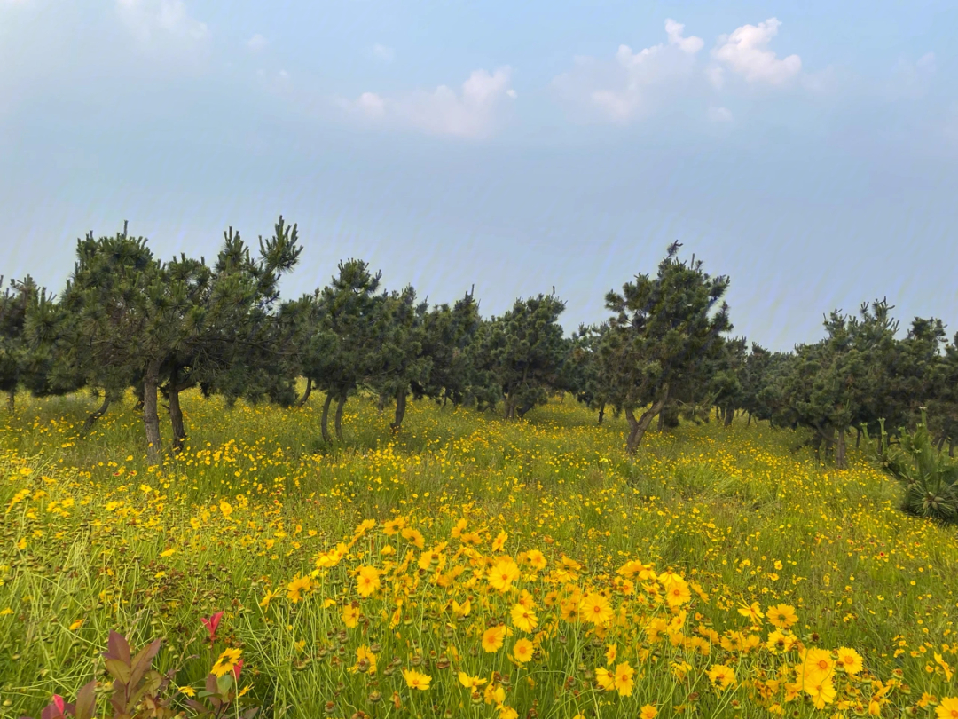
[[[801,73],[802,58],[797,55],[778,58],[768,49],[781,24],[777,18],[770,17],[758,25],[742,25],[730,35],[720,35],[719,43],[712,50],[712,57],[720,63],[720,67],[710,68],[712,84],[721,87],[723,68],[747,82],[770,85],[783,85]]]

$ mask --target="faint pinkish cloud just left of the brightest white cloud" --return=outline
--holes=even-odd
[[[687,78],[696,53],[704,42],[683,35],[685,26],[672,18],[665,21],[668,44],[659,43],[633,52],[620,45],[614,61],[574,58],[575,67],[553,80],[553,86],[568,102],[605,122],[626,124],[643,117],[662,100],[661,96]]]

